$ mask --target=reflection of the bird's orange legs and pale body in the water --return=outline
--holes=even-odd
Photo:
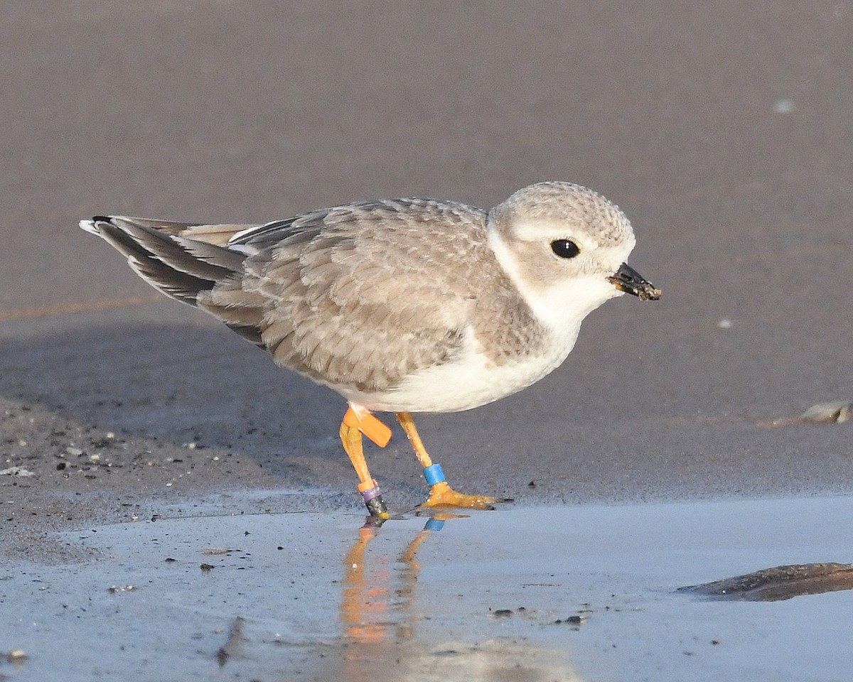
[[[379,535],[385,521],[370,517],[358,530],[358,538],[344,559],[340,604],[340,619],[345,628],[341,679],[345,682],[363,682],[377,677],[401,682],[495,679],[579,682],[558,652],[519,644],[519,639],[488,639],[478,643],[454,641],[436,646],[417,639],[416,625],[425,616],[417,608],[421,574],[417,555],[430,535],[456,518],[464,517],[437,513],[427,519],[426,525],[396,561],[380,552],[378,556],[368,553],[368,546]]]

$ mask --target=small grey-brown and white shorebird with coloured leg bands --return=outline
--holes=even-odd
[[[95,216],[80,227],[155,289],[218,318],[343,396],[339,436],[371,516],[389,517],[363,453],[395,413],[429,484],[427,507],[505,501],[450,487],[415,413],[480,407],[566,360],[581,322],[624,293],[661,292],[627,263],[630,221],[601,194],[537,182],[484,211],[375,199],[260,224]]]

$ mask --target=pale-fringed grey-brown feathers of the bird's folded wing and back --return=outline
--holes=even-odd
[[[243,284],[268,298],[264,345],[283,365],[363,391],[390,390],[407,373],[449,361],[476,296],[467,259],[461,269],[445,266],[485,244],[485,223],[469,206],[398,199],[236,235],[242,246],[264,246],[247,258]],[[441,266],[426,269],[429,280],[425,262]]]

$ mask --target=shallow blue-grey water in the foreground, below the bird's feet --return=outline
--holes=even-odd
[[[0,571],[11,680],[848,679],[853,592],[678,587],[853,559],[853,498],[194,518]],[[223,552],[223,550],[228,550]]]

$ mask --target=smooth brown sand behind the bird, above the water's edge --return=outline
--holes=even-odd
[[[2,6],[0,396],[36,415],[9,422],[31,431],[7,460],[61,452],[62,422],[247,455],[222,485],[350,491],[342,400],[158,298],[78,220],[489,208],[559,179],[624,209],[664,298],[607,303],[530,390],[423,420],[451,481],[534,501],[853,488],[849,426],[766,425],[853,396],[851,3]],[[401,433],[368,458],[419,497]]]

